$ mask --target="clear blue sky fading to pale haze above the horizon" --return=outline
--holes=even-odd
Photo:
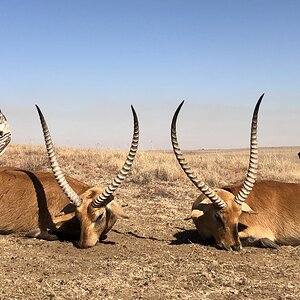
[[[14,143],[170,149],[300,145],[299,1],[0,0],[0,108]]]

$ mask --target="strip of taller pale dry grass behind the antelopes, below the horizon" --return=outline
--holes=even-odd
[[[259,179],[286,182],[300,181],[298,149],[266,148],[259,153]],[[59,162],[66,174],[99,184],[111,179],[122,167],[127,152],[97,149],[57,148]],[[192,170],[209,185],[223,186],[242,181],[248,167],[248,150],[217,150],[186,152]],[[11,145],[0,165],[32,171],[49,169],[43,146]],[[186,181],[185,174],[171,151],[143,151],[137,154],[128,181],[139,184],[167,184]]]

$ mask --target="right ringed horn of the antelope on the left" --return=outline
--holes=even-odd
[[[131,169],[133,160],[134,160],[136,152],[137,152],[138,142],[139,142],[139,122],[138,122],[136,112],[132,105],[131,105],[131,110],[132,110],[132,114],[133,114],[134,129],[133,129],[133,137],[132,137],[131,146],[130,146],[130,150],[129,150],[127,159],[126,159],[121,171],[114,178],[112,183],[106,187],[106,189],[101,193],[100,196],[98,196],[96,199],[93,200],[93,202],[91,203],[91,206],[93,208],[103,207],[112,200],[112,198],[110,196],[114,193],[114,191],[118,188],[118,186],[123,182],[123,180],[126,178],[126,176],[128,175],[128,173]]]

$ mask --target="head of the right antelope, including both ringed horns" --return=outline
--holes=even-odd
[[[258,167],[257,150],[257,119],[262,95],[254,109],[251,124],[250,160],[246,179],[237,195],[224,189],[211,189],[205,182],[199,180],[186,162],[179,148],[176,122],[179,111],[184,102],[177,108],[171,124],[171,141],[175,156],[189,179],[202,192],[192,208],[192,219],[203,239],[213,237],[219,248],[226,250],[240,250],[242,248],[238,236],[238,223],[242,212],[254,213],[246,204],[247,196],[256,180]]]

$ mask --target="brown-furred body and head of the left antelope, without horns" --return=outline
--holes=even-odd
[[[103,208],[90,209],[89,203],[102,190],[69,176],[66,179],[81,195],[83,203],[79,208],[70,204],[52,173],[0,168],[0,233],[27,232],[30,237],[50,240],[55,239],[51,232],[80,232],[80,247],[95,245],[99,236],[111,229],[117,216],[124,215],[122,208],[112,201]],[[96,221],[95,216],[100,213],[103,217]],[[94,227],[98,228],[91,229]]]

